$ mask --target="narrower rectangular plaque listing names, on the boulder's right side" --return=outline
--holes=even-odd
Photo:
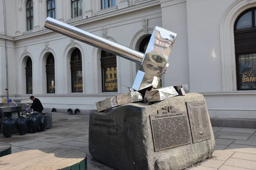
[[[193,143],[211,139],[205,101],[186,102]]]

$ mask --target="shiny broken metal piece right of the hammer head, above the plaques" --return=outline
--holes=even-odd
[[[166,88],[158,88],[155,90],[147,91],[146,96],[148,102],[159,102],[174,96],[184,96],[186,93],[188,93],[186,88],[187,85],[176,85]]]

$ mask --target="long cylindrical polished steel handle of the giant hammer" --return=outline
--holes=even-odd
[[[90,32],[55,20],[51,17],[47,17],[44,27],[139,64],[141,64],[144,57],[144,54],[139,51],[135,51],[95,34],[91,34]]]

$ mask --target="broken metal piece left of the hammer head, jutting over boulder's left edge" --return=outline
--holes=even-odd
[[[113,96],[111,98],[96,102],[97,111],[104,111],[107,108],[113,108],[116,106],[133,103],[133,102],[140,102],[143,100],[142,94],[138,91],[131,91],[129,93],[120,94],[117,96]]]

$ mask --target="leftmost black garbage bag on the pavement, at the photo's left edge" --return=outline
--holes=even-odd
[[[6,137],[6,138],[11,137],[12,136],[12,131],[13,131],[14,126],[15,126],[15,121],[12,118],[12,116],[9,116],[9,117],[6,117],[5,119],[3,119],[2,124],[3,124],[3,126],[2,126],[3,136]]]

